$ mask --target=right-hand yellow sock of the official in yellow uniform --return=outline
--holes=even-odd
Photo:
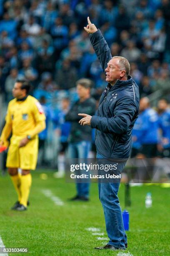
[[[27,207],[28,197],[30,194],[30,187],[32,183],[32,176],[29,173],[26,175],[21,175],[20,179],[21,179],[20,189],[21,189],[21,195],[22,195],[20,204]]]

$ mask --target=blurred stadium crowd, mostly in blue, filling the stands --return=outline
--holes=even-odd
[[[165,96],[170,101],[169,0],[0,0],[0,94],[7,104],[13,98],[16,79],[31,82],[32,94],[47,116],[47,129],[40,134],[42,148],[49,120],[57,134],[60,130],[60,142],[67,143],[70,126],[64,115],[77,100],[77,79],[93,81],[91,95],[95,100],[106,86],[83,29],[87,16],[102,31],[112,56],[130,61],[130,74],[139,85],[140,97],[159,92],[158,100]],[[159,119],[153,112],[153,119]],[[149,113],[138,120],[144,123],[147,118]],[[145,144],[158,144],[158,136],[154,139]],[[140,146],[141,141],[133,140],[133,148]],[[164,146],[169,148],[170,143]]]

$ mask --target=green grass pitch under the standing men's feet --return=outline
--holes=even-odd
[[[46,172],[48,178],[40,178]],[[170,188],[152,185],[131,188],[132,206],[130,230],[126,251],[96,251],[107,240],[97,240],[87,228],[99,228],[100,236],[107,238],[102,206],[98,199],[97,184],[90,189],[89,202],[69,202],[75,195],[75,184],[65,179],[53,178],[53,172],[32,172],[33,183],[30,206],[25,212],[15,212],[10,207],[16,194],[9,176],[0,177],[0,236],[6,248],[28,248],[25,255],[170,255]],[[42,191],[50,190],[63,205],[56,205]],[[124,185],[119,196],[124,210]],[[152,193],[153,207],[145,208],[145,196]],[[49,191],[48,191],[49,193]],[[54,198],[53,198],[54,199]],[[9,255],[13,255],[12,253]],[[20,255],[15,253],[14,255]]]

